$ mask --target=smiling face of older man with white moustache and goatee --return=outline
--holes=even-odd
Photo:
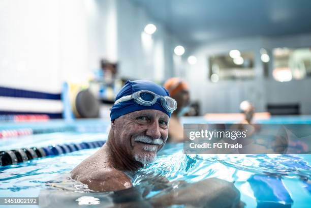
[[[160,110],[122,115],[111,124],[118,150],[143,164],[152,162],[168,137],[169,116]]]

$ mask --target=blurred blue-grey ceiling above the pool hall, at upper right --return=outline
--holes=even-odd
[[[132,0],[180,40],[311,32],[309,0]]]

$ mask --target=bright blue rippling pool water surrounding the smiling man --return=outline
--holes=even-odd
[[[311,121],[299,120],[299,117],[290,117],[288,120],[284,117],[274,119],[274,122],[283,121],[283,123]],[[200,117],[188,118],[184,122],[206,123],[204,118]],[[273,123],[273,119],[270,122]],[[109,122],[100,120],[81,120],[70,123],[53,121],[43,124],[6,123],[0,126],[2,129],[41,128],[40,134],[1,140],[1,150],[11,150],[20,147],[105,140]],[[44,129],[51,128],[64,131],[44,133]],[[135,187],[150,189],[149,185],[152,184],[153,188],[151,187],[144,196],[145,198],[150,198],[161,191],[165,193],[168,187],[178,186],[178,181],[192,183],[217,177],[235,183],[246,207],[310,207],[310,155],[184,155],[182,147],[182,143],[167,144],[158,154],[157,160],[132,174]],[[63,196],[70,199],[65,201],[64,205],[75,207],[79,203],[83,204],[82,199],[85,199],[83,197],[88,196],[93,198],[86,199],[96,199],[96,203],[92,206],[110,207],[115,201],[115,196],[91,192],[82,184],[66,179],[67,173],[97,150],[98,147],[88,148],[60,156],[49,156],[0,167],[0,197],[37,197],[43,193],[43,200]],[[165,176],[171,183],[163,183],[162,176]],[[44,191],[47,190],[49,199],[44,199]],[[122,197],[123,202],[126,200],[126,197]],[[37,206],[27,205],[26,207]]]

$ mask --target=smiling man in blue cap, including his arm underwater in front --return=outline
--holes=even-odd
[[[155,159],[168,138],[169,120],[176,105],[168,91],[158,84],[147,80],[127,81],[111,109],[107,142],[72,170],[72,178],[95,191],[131,188],[131,179],[125,172],[136,171]],[[233,184],[218,179],[181,183],[173,191],[153,196],[144,203],[143,207],[171,204],[242,206],[240,193]],[[122,207],[138,207],[139,204],[129,202]]]

